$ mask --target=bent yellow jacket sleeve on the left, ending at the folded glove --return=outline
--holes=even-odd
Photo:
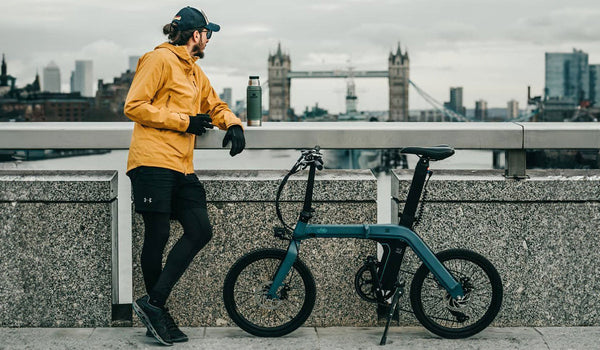
[[[152,105],[156,92],[164,85],[170,67],[155,52],[144,55],[138,62],[133,82],[125,100],[124,113],[134,122],[155,129],[185,132],[189,116]]]

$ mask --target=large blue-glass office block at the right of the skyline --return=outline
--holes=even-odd
[[[590,98],[588,54],[573,49],[571,53],[546,53],[545,99],[572,104]]]

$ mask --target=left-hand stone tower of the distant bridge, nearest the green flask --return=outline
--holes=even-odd
[[[281,43],[277,52],[269,54],[269,121],[290,119],[290,56],[281,52]]]

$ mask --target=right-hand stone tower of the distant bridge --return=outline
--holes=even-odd
[[[400,43],[396,53],[390,52],[388,60],[389,86],[390,86],[390,122],[408,121],[408,80],[410,67],[408,51],[402,54]]]

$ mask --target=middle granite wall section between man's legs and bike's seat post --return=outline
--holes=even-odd
[[[199,171],[197,175],[205,184],[214,235],[176,285],[168,305],[184,326],[233,325],[222,297],[224,278],[231,265],[255,248],[287,248],[287,242],[273,237],[273,226],[279,226],[275,194],[285,172]],[[282,211],[289,224],[295,223],[302,208],[305,175],[294,175],[284,191],[286,202],[282,203]],[[375,223],[376,185],[370,171],[318,173],[313,222]],[[173,221],[165,252],[181,234],[181,226]],[[142,242],[143,222],[141,215],[135,214],[134,299],[145,294],[139,266]],[[300,258],[311,269],[317,284],[316,305],[307,326],[376,323],[375,306],[363,302],[354,292],[354,273],[367,255],[374,254],[376,244],[366,240],[308,240],[302,244]],[[134,322],[139,321],[134,318]]]

